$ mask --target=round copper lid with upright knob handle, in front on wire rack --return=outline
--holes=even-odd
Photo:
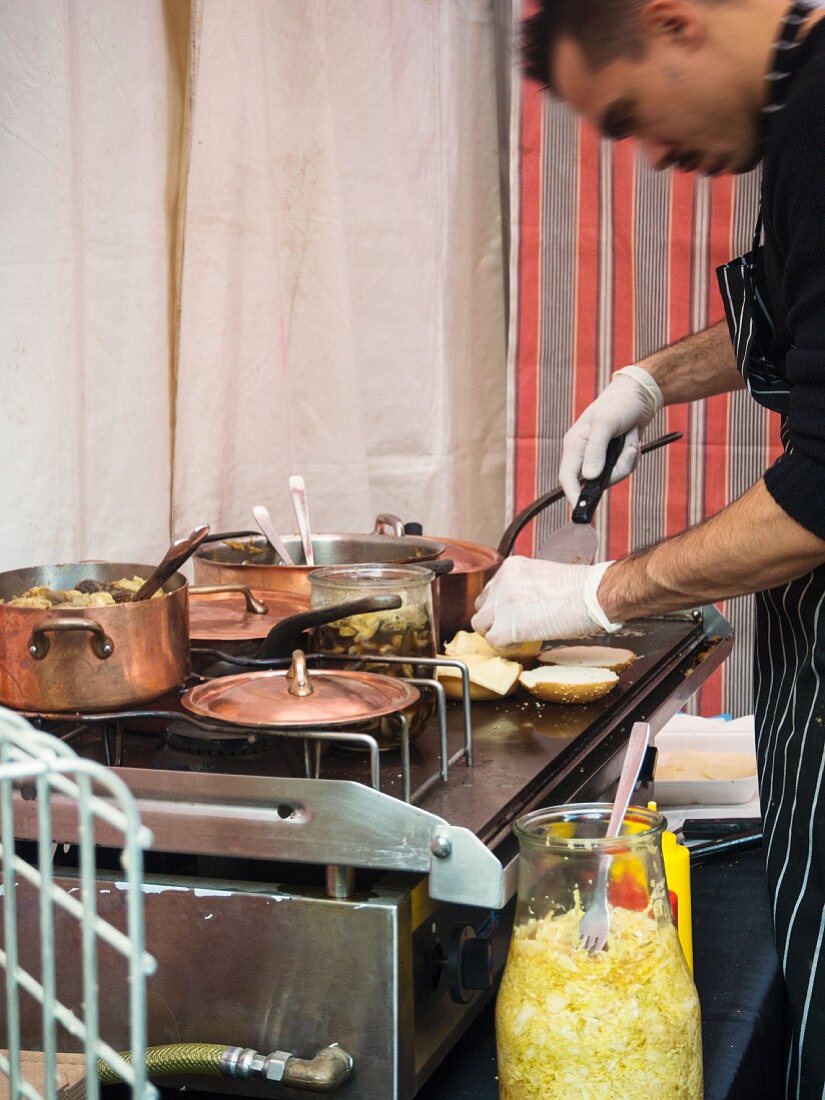
[[[407,680],[337,669],[308,672],[300,650],[286,671],[266,669],[209,680],[180,702],[193,714],[257,728],[319,728],[351,725],[396,714],[417,703]]]

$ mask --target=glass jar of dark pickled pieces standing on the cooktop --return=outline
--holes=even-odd
[[[416,664],[416,657],[436,656],[436,626],[432,609],[433,573],[424,565],[329,565],[309,574],[310,607],[360,600],[363,596],[399,595],[402,606],[395,610],[353,615],[316,627],[314,648],[317,653],[346,658],[363,658],[354,666],[341,662],[341,668],[363,668],[387,676],[413,676],[432,680],[435,670]],[[409,657],[407,663],[382,661],[382,657]],[[436,710],[436,693],[419,685],[420,698],[402,712],[409,723],[410,738],[417,737]],[[366,729],[366,727],[364,727]],[[402,725],[395,715],[370,724],[382,748],[397,748]]]

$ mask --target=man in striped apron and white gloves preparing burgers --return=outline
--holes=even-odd
[[[541,0],[528,75],[652,165],[762,162],[754,249],[719,270],[728,323],[617,371],[564,438],[571,503],[662,405],[747,386],[784,453],[723,512],[624,561],[510,558],[474,627],[494,645],[613,631],[757,593],[755,708],[768,878],[793,1022],[788,1094],[825,1096],[825,10],[784,0]],[[762,242],[760,244],[760,242]],[[822,685],[822,686],[821,686]]]

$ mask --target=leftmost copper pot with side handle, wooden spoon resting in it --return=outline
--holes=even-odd
[[[28,588],[72,588],[90,578],[148,576],[154,565],[78,562],[0,573],[0,598]],[[108,607],[0,604],[0,703],[19,711],[106,711],[154,698],[189,671],[187,583],[175,573],[163,595]]]

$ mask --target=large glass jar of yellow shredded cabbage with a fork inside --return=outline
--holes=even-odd
[[[501,1100],[702,1100],[696,988],[664,881],[664,820],[631,806],[538,810],[515,824],[518,902],[496,1004]],[[579,925],[608,860],[604,950]]]

